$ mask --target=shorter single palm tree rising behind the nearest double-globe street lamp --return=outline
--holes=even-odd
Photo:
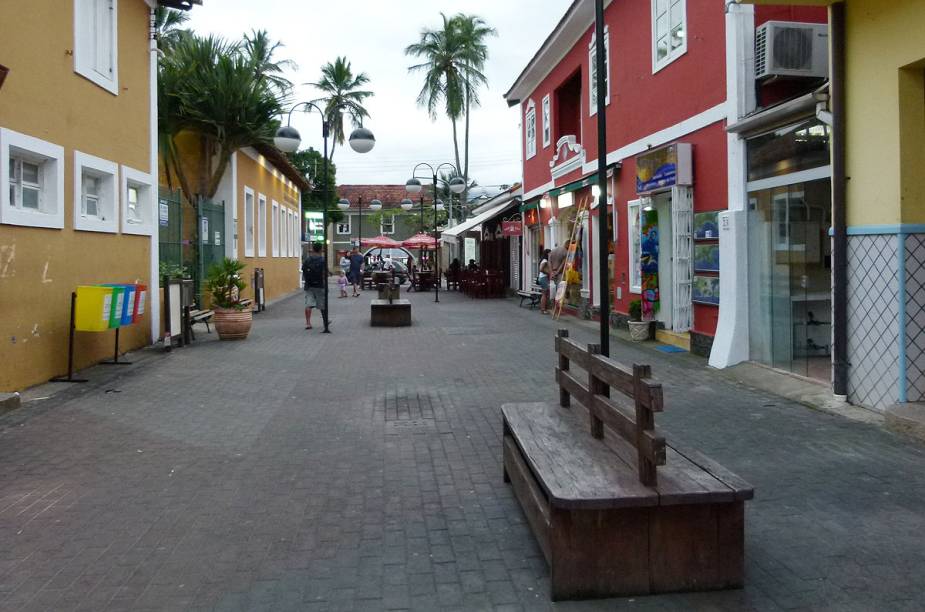
[[[324,106],[324,114],[331,129],[332,144],[328,159],[334,159],[335,147],[344,144],[344,116],[341,111],[350,115],[354,126],[363,125],[363,118],[369,117],[363,101],[371,97],[373,92],[360,89],[367,83],[369,76],[365,72],[354,76],[346,57],[338,57],[333,64],[328,62],[321,67],[321,80],[307,83],[325,94],[312,102]]]

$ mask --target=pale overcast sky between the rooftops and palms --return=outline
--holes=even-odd
[[[440,12],[466,12],[498,30],[489,40],[487,90],[472,113],[469,174],[481,185],[510,184],[521,178],[519,118],[502,98],[540,44],[565,13],[571,0],[205,0],[193,8],[191,25],[199,33],[240,38],[250,29],[265,29],[285,47],[280,57],[298,63],[288,75],[297,101],[317,97],[303,83],[317,81],[320,67],[345,55],[354,73],[366,72],[375,92],[365,123],[376,147],[359,155],[344,144],[334,154],[338,183],[404,183],[417,162],[453,161],[449,121],[432,122],[418,108],[421,77],[408,74],[414,63],[404,48],[422,28],[436,28]],[[321,123],[316,114],[293,115],[303,146],[321,150]],[[349,135],[349,126],[347,131]],[[460,124],[460,148],[462,148]],[[462,153],[460,152],[460,155]]]

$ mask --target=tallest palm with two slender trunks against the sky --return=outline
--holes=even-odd
[[[431,119],[437,118],[437,109],[453,125],[453,151],[456,167],[469,179],[469,112],[479,103],[478,90],[488,84],[482,72],[488,58],[484,40],[495,31],[474,15],[462,13],[448,18],[440,14],[442,27],[424,29],[420,40],[405,48],[405,54],[424,61],[408,67],[409,72],[423,72],[424,85],[418,94],[418,104],[427,109]],[[465,163],[460,163],[457,121],[465,115]]]

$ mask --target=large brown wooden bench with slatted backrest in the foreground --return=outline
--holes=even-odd
[[[501,408],[504,479],[549,563],[552,599],[741,587],[752,487],[665,441],[648,366],[566,330],[556,352],[559,406]]]

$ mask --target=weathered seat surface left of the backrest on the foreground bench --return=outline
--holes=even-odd
[[[545,403],[501,407],[525,463],[551,507],[627,508],[655,506],[658,494],[636,478],[572,411]]]

